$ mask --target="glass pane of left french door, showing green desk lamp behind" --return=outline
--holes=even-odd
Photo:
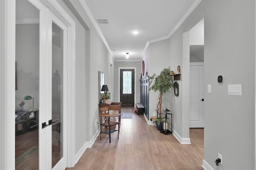
[[[15,169],[39,169],[40,11],[16,0]]]

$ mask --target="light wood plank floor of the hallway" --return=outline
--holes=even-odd
[[[97,137],[73,168],[66,170],[203,170],[204,129],[190,129],[192,144],[180,144],[148,125],[143,115],[121,119],[118,132]]]

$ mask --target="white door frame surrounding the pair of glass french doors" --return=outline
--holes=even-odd
[[[34,4],[34,0],[29,0]],[[4,80],[4,89],[0,91],[1,96],[4,95],[4,103],[1,103],[1,119],[3,120],[3,127],[0,132],[1,136],[4,138],[4,141],[1,141],[0,150],[4,151],[1,154],[1,166],[4,169],[15,169],[15,24],[16,24],[16,4],[15,1],[5,0],[2,2],[5,4],[5,39],[4,42],[1,40],[1,43],[4,43],[5,58],[1,58],[4,64],[3,73],[0,74],[1,79]],[[68,167],[72,167],[75,164],[75,22],[68,15],[68,13],[58,4],[56,0],[44,0],[43,4],[48,6],[48,8],[54,12],[54,14],[68,26],[68,94],[67,102],[68,105]],[[2,5],[2,4],[1,4]],[[41,35],[40,35],[41,36]],[[40,37],[44,38],[44,37]],[[41,44],[40,44],[40,47]],[[40,48],[41,49],[41,48]],[[40,55],[42,53],[40,52]],[[2,65],[2,64],[1,64]],[[2,70],[1,70],[2,71]],[[41,70],[40,70],[41,71]],[[40,75],[41,76],[41,75]],[[42,109],[42,108],[40,108]],[[1,122],[2,123],[2,122]],[[42,128],[42,125],[39,125],[39,128]],[[3,133],[3,134],[2,134]],[[41,151],[42,152],[42,151]]]

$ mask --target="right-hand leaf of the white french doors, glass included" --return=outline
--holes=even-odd
[[[48,156],[47,169],[67,167],[67,26],[50,10],[47,19]],[[48,155],[49,155],[48,154]]]

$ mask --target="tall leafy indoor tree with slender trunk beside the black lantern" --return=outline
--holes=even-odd
[[[160,75],[156,76],[156,74],[154,73],[152,76],[149,77],[149,90],[154,90],[154,92],[159,91],[159,100],[156,110],[159,117],[155,119],[157,123],[159,122],[158,125],[160,125],[160,122],[162,121],[162,95],[167,93],[170,90],[170,88],[173,87],[173,80],[170,72],[170,67],[168,67],[164,68],[161,71]]]

